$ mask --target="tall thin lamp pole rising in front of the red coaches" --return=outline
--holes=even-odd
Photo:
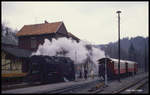
[[[120,13],[121,11],[117,11],[118,13],[118,81],[120,82]]]

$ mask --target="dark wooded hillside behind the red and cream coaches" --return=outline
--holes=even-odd
[[[139,68],[149,67],[149,37],[137,36],[120,40],[120,58],[123,60],[136,61]],[[110,42],[105,45],[96,45],[111,58],[118,58],[118,42]],[[146,63],[146,66],[145,66]]]

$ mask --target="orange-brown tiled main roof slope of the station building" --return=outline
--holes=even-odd
[[[57,32],[58,28],[63,22],[42,23],[34,25],[24,25],[23,28],[16,34],[16,36],[41,35]]]

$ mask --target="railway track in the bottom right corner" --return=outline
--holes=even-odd
[[[145,85],[148,82],[148,77],[144,77],[140,80],[135,81],[134,83],[131,83],[123,88],[120,88],[118,90],[113,91],[113,94],[131,94],[136,92],[141,92],[141,88],[143,85]]]

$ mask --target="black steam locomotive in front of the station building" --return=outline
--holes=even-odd
[[[30,83],[75,80],[74,63],[68,57],[34,55],[30,59],[26,80]]]

